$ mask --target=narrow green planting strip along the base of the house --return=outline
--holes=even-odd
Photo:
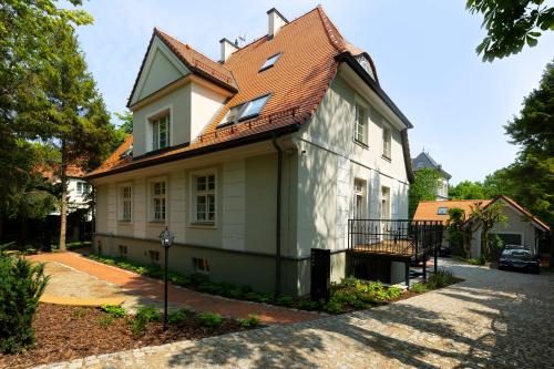
[[[132,270],[147,277],[162,279],[164,276],[164,270],[156,266],[146,266],[123,258],[100,256],[95,254],[91,254],[89,255],[89,257],[96,262],[117,266],[120,268]],[[443,274],[444,271],[439,273],[439,275]],[[452,276],[452,278],[454,277]],[[404,290],[399,286],[384,286],[379,281],[360,280],[353,277],[343,278],[340,283],[332,284],[330,298],[327,303],[312,301],[308,298],[293,298],[286,295],[274,297],[268,293],[255,291],[249,286],[235,286],[226,283],[212,281],[205,275],[184,276],[174,271],[170,271],[168,279],[174,285],[183,286],[206,294],[255,303],[278,305],[300,310],[326,311],[328,314],[342,314],[352,310],[367,309],[373,306],[396,301],[403,297],[413,296],[413,294],[411,293],[404,293]],[[455,281],[458,280],[452,279],[449,284]],[[425,287],[425,290],[434,288],[439,287],[428,286]]]

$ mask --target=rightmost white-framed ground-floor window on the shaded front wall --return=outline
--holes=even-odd
[[[215,174],[202,174],[193,177],[195,223],[215,222],[216,181]]]

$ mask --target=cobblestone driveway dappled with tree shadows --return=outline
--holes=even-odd
[[[554,368],[554,275],[441,263],[465,281],[355,314],[60,368]]]

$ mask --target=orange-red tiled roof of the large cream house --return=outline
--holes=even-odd
[[[229,86],[237,86],[238,92],[226,102],[203,134],[188,146],[122,160],[121,153],[132,145],[130,137],[106,162],[90,174],[91,177],[106,175],[115,170],[131,170],[160,158],[185,155],[201,147],[301,124],[314,114],[328,90],[338,68],[336,57],[345,52],[362,52],[346,42],[321,7],[285,24],[273,39],[264,35],[235,51],[224,64],[209,60],[157,29],[154,30],[154,34],[160,37],[184,63],[195,65]],[[276,53],[281,55],[275,65],[259,72],[264,62]],[[228,127],[217,127],[217,123],[230,107],[268,93],[271,96],[259,116]]]

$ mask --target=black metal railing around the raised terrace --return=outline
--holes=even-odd
[[[418,257],[438,249],[442,222],[407,219],[348,219],[348,248],[352,252]]]

